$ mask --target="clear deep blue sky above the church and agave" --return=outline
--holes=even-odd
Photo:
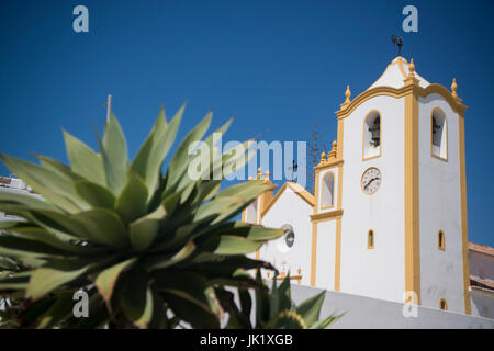
[[[89,33],[72,9],[89,9]],[[403,33],[402,9],[418,9]],[[403,35],[427,80],[457,78],[465,114],[470,240],[494,247],[493,1],[22,1],[0,2],[0,151],[66,160],[61,127],[96,147],[108,93],[131,156],[165,104],[189,101],[183,136],[214,107],[226,135],[328,144],[334,112],[375,81]],[[490,44],[491,43],[491,44]],[[1,165],[0,173],[8,174]]]

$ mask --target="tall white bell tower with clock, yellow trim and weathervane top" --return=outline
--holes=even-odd
[[[470,313],[465,106],[451,89],[402,57],[352,101],[347,88],[335,290]]]

